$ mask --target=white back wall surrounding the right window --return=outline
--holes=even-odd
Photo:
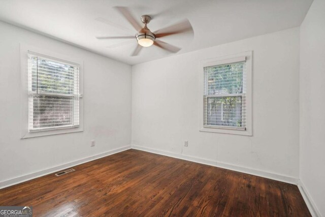
[[[249,50],[253,136],[199,132],[200,60]],[[299,28],[149,61],[132,70],[133,145],[299,177]]]

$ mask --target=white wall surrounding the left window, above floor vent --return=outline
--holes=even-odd
[[[131,66],[4,22],[0,33],[0,182],[131,144]],[[84,60],[83,132],[20,139],[19,43]]]

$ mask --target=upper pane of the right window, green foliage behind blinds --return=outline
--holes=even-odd
[[[241,94],[245,62],[204,68],[205,95]]]

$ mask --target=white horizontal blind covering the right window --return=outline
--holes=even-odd
[[[245,130],[245,57],[204,67],[204,127]]]

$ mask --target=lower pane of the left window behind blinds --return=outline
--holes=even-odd
[[[31,129],[70,126],[74,124],[74,98],[37,96],[32,99]]]

